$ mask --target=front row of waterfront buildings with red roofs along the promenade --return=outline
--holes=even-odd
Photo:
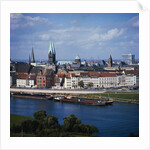
[[[14,74],[10,76],[10,86],[27,88],[81,88],[80,81],[83,82],[83,88],[88,88],[89,83],[92,88],[111,88],[111,87],[129,87],[139,85],[138,70],[123,71],[122,73],[110,72],[80,72],[75,73],[57,73],[53,70],[39,70],[37,74]]]

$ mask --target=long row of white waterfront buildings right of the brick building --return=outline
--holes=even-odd
[[[136,75],[117,75],[116,73],[89,73],[84,76],[70,76],[65,78],[64,88],[80,88],[78,83],[83,81],[84,88],[88,88],[89,83],[93,83],[92,88],[111,88],[121,86],[137,86],[138,76]]]

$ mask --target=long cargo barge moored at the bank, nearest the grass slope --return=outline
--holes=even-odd
[[[65,96],[57,96],[54,98],[55,101],[59,102],[70,102],[70,103],[78,103],[78,104],[88,104],[94,106],[105,106],[111,105],[113,103],[112,100],[107,99],[83,99],[78,97],[65,97]]]

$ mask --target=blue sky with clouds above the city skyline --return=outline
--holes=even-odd
[[[47,60],[50,40],[57,60],[121,59],[122,54],[139,58],[137,13],[12,13],[10,57],[25,60],[32,46],[36,60]]]

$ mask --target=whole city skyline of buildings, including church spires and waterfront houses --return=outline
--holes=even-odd
[[[134,60],[133,56],[130,59]],[[129,62],[128,62],[129,63]],[[114,65],[110,55],[107,65],[87,65],[79,56],[75,61],[56,61],[54,44],[50,42],[48,63],[36,63],[32,48],[29,63],[10,62],[10,86],[33,88],[109,88],[138,86],[138,65]]]

